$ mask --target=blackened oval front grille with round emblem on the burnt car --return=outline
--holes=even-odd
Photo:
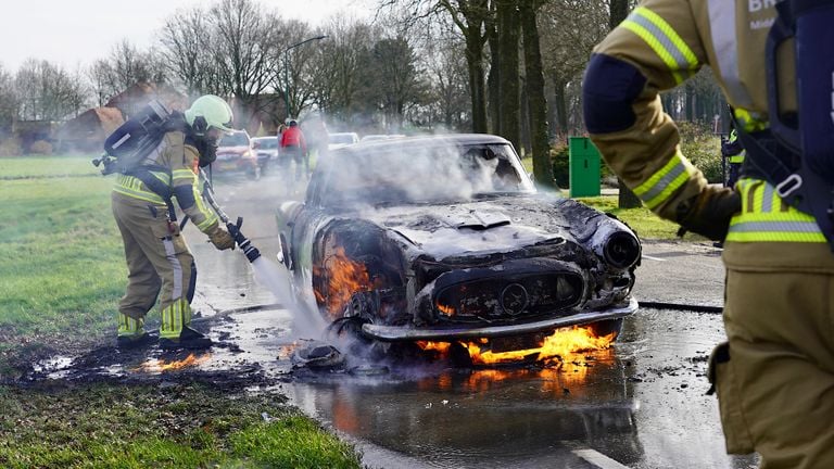
[[[433,303],[441,320],[515,319],[576,306],[582,286],[574,272],[480,278],[440,289]]]

